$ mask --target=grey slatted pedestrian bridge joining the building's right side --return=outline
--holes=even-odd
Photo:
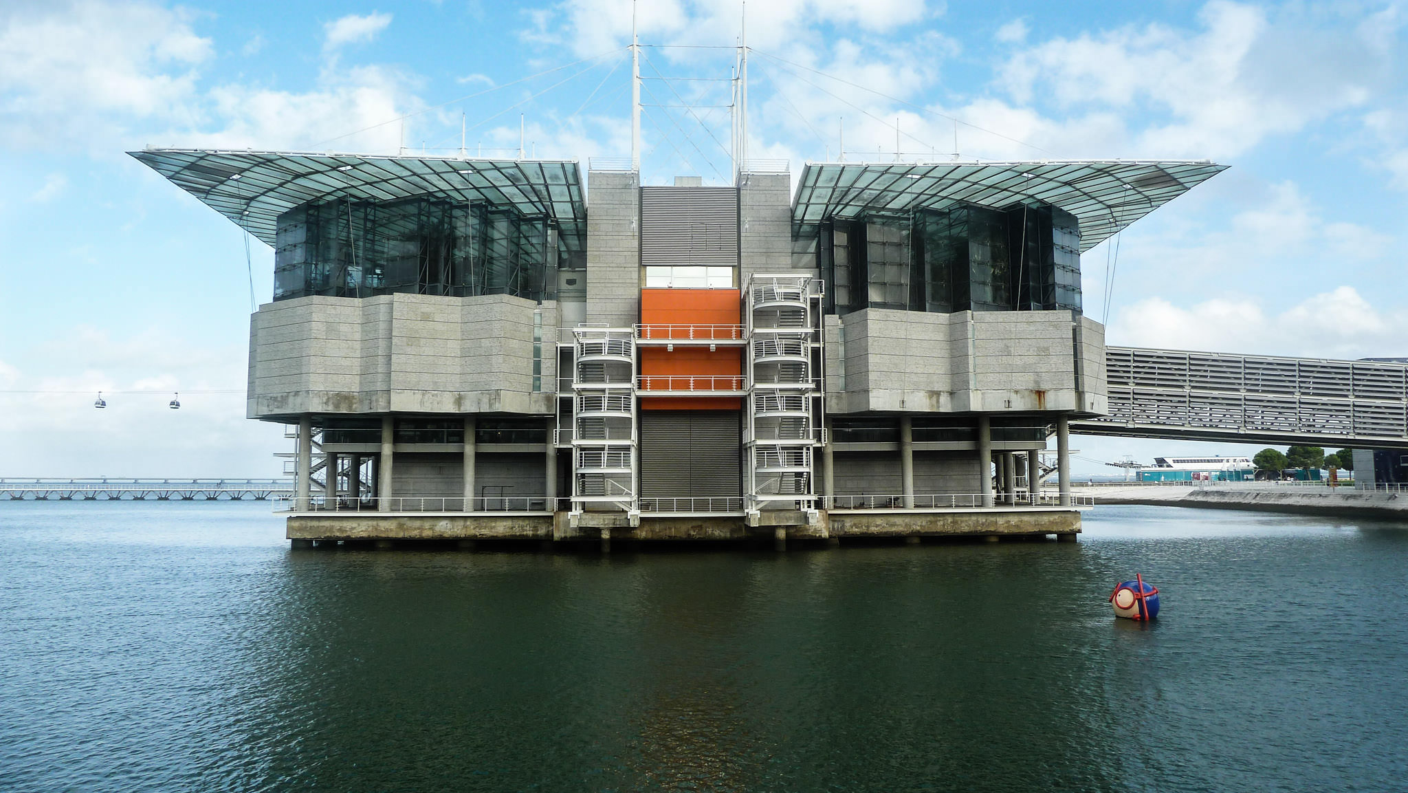
[[[1105,348],[1110,416],[1071,432],[1408,448],[1408,365]]]

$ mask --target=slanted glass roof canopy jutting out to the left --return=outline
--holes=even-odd
[[[311,200],[387,201],[425,193],[546,216],[558,221],[569,248],[586,244],[587,206],[576,161],[208,149],[128,154],[270,246],[279,216]]]

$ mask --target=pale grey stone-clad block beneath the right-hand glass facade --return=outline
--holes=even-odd
[[[1105,410],[1104,328],[1070,311],[866,308],[825,332],[828,413]]]

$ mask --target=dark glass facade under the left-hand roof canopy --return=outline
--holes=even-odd
[[[553,221],[513,207],[338,197],[279,216],[275,300],[408,292],[541,301],[553,297],[556,270],[584,268],[582,249],[559,244]]]

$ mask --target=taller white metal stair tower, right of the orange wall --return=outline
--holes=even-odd
[[[812,508],[821,442],[821,282],[755,273],[743,287],[749,510]]]

